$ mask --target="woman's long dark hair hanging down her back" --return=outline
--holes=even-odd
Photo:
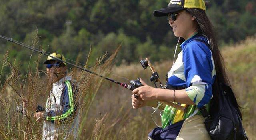
[[[228,86],[231,86],[231,85],[225,71],[224,59],[218,48],[214,27],[212,26],[212,23],[210,22],[204,10],[197,9],[197,8],[188,8],[186,9],[186,11],[189,12],[194,18],[196,18],[196,21],[199,26],[198,33],[206,36],[210,42],[210,50],[212,51],[212,57],[214,60],[215,70],[216,70],[216,78],[215,78],[214,84],[212,85],[212,92],[213,92],[212,101],[218,104],[218,97],[219,97],[218,95],[220,92],[219,83],[224,83],[224,84],[227,84]],[[235,95],[233,96],[235,97]],[[233,100],[234,101],[232,102],[234,102],[234,106],[237,108],[238,113],[242,119],[240,106],[237,104],[236,98],[234,98]]]

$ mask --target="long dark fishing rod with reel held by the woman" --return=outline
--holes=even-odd
[[[2,35],[0,35],[0,38],[3,38],[4,40],[8,40],[8,41],[10,41],[10,42],[12,42],[12,43],[18,44],[18,45],[23,46],[23,47],[25,47],[25,48],[28,48],[28,49],[30,49],[30,50],[33,50],[33,51],[38,52],[38,53],[40,53],[40,54],[43,54],[43,55],[45,55],[45,56],[49,56],[49,57],[51,57],[51,58],[54,58],[55,60],[58,60],[58,61],[60,61],[60,62],[64,62],[64,63],[69,64],[69,65],[71,65],[71,66],[74,66],[74,67],[76,67],[76,68],[79,68],[80,70],[84,70],[84,71],[86,71],[86,72],[89,72],[89,73],[91,73],[91,74],[94,74],[94,75],[96,75],[96,76],[99,76],[99,77],[101,77],[101,78],[104,78],[104,79],[106,79],[106,80],[109,80],[110,82],[114,82],[114,83],[116,83],[116,84],[119,84],[120,86],[123,86],[124,88],[127,88],[128,90],[134,90],[135,88],[138,88],[139,86],[142,86],[142,84],[141,84],[138,80],[131,80],[131,81],[130,81],[130,84],[131,84],[131,85],[130,85],[130,84],[126,84],[126,83],[121,83],[121,82],[118,82],[118,81],[116,81],[116,80],[110,79],[110,78],[105,77],[105,76],[102,76],[102,75],[100,75],[100,74],[97,74],[97,73],[95,73],[95,72],[92,72],[92,71],[90,71],[90,70],[88,70],[88,69],[86,69],[86,68],[82,68],[82,67],[80,67],[80,66],[76,66],[75,64],[72,64],[72,63],[70,63],[70,62],[61,60],[60,58],[56,58],[56,57],[54,57],[54,56],[51,56],[50,54],[47,54],[46,52],[44,52],[44,50],[40,50],[40,49],[38,49],[38,48],[34,48],[34,47],[32,47],[32,46],[30,46],[30,45],[27,45],[27,44],[24,44],[24,43],[22,43],[22,42],[18,42],[18,41],[16,41],[16,40],[13,40],[12,38],[8,38],[8,37],[2,36]]]

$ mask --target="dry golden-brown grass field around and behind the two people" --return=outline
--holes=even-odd
[[[253,132],[256,132],[256,37],[248,38],[244,42],[227,46],[222,49],[222,54],[226,62],[226,68],[232,88],[238,97],[240,105],[243,107],[243,124],[250,140],[255,140]],[[38,58],[40,59],[40,58]],[[112,58],[103,65],[96,64],[93,71],[104,74],[120,82],[128,83],[129,79],[142,78],[149,85],[151,76],[150,70],[144,70],[139,64],[112,66]],[[3,60],[4,67],[8,67],[8,62]],[[153,64],[158,71],[162,82],[171,68],[172,62],[158,62]],[[110,74],[122,76],[120,78]],[[102,71],[105,71],[102,73]],[[7,81],[31,102],[28,107],[28,117],[15,112],[16,105],[20,104],[18,96],[13,90],[4,84],[0,94],[0,139],[41,139],[42,122],[35,122],[32,114],[34,106],[32,104],[45,104],[49,93],[47,79],[38,75],[40,71],[30,72],[26,87],[20,86],[20,75],[18,65],[13,66]],[[13,74],[13,75],[12,75]],[[79,139],[81,140],[143,140],[147,139],[148,132],[156,125],[151,119],[153,110],[149,107],[132,109],[132,92],[117,84],[113,84],[102,78],[98,78],[86,72],[73,69],[70,72],[79,83],[81,94],[80,106],[80,128]],[[159,113],[159,112],[158,112]],[[157,122],[160,122],[160,115],[154,114]],[[29,120],[29,119],[30,120]],[[31,121],[31,122],[30,122]]]

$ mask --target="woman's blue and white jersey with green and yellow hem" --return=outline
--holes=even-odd
[[[195,34],[180,47],[181,52],[168,72],[168,86],[183,88],[196,104],[188,106],[183,113],[166,106],[163,112],[163,128],[198,113],[198,108],[208,104],[212,98],[212,84],[215,80],[215,65],[206,37]]]

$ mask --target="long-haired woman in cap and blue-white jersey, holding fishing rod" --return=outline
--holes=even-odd
[[[133,90],[133,108],[156,107],[157,100],[184,104],[186,112],[163,105],[162,127],[149,134],[149,140],[210,139],[198,108],[209,110],[213,95],[218,96],[219,82],[229,81],[223,58],[218,50],[214,30],[205,13],[203,0],[171,0],[167,8],[154,11],[154,16],[168,16],[172,31],[185,41],[181,52],[168,72],[167,89],[156,89],[140,80],[144,86]],[[174,56],[175,57],[175,56]],[[160,108],[161,108],[160,107]]]

